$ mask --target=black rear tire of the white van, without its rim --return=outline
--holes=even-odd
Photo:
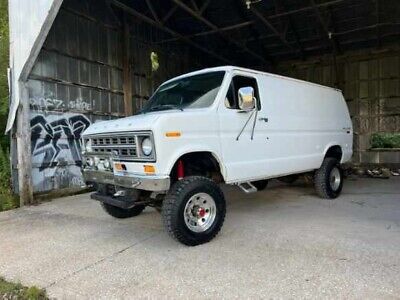
[[[334,168],[337,168],[340,173],[340,184],[335,190],[330,184],[331,172]],[[336,158],[326,157],[324,159],[321,167],[315,171],[314,186],[321,198],[334,199],[340,195],[343,188],[343,171],[340,167],[340,162]]]

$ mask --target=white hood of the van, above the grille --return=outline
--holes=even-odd
[[[90,125],[89,128],[83,132],[82,136],[124,131],[151,130],[161,115],[162,114],[160,113],[148,113],[112,121],[96,122]]]

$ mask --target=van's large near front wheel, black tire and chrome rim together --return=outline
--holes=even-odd
[[[222,190],[215,182],[201,176],[177,181],[165,197],[162,207],[168,233],[188,246],[212,240],[224,223],[225,212]]]

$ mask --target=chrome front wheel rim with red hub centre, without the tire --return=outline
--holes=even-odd
[[[208,230],[217,216],[214,199],[206,193],[197,193],[186,203],[183,217],[186,226],[193,232]]]

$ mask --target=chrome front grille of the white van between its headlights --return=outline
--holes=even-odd
[[[138,158],[138,149],[135,135],[99,136],[90,138],[94,153],[109,153],[120,160],[134,160]]]

